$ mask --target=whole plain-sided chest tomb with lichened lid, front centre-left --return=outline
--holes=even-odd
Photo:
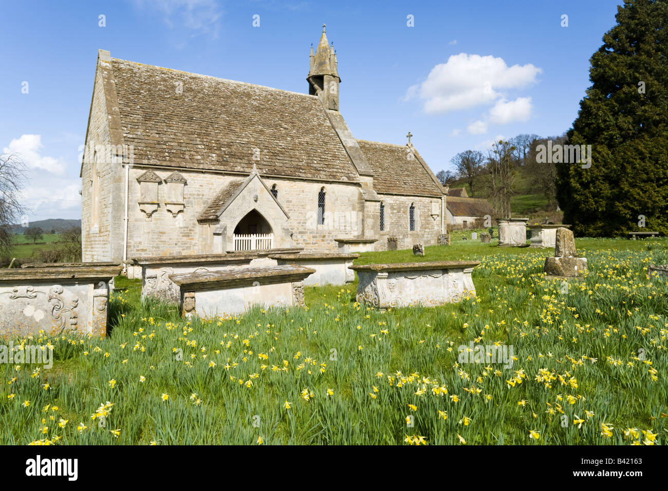
[[[253,305],[304,306],[303,280],[315,269],[283,265],[182,273],[169,279],[180,289],[182,315],[202,319],[243,313]]]

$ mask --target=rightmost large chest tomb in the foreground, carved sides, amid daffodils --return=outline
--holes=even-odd
[[[475,297],[471,272],[480,261],[436,261],[355,265],[357,301],[379,309],[425,305],[428,307]]]

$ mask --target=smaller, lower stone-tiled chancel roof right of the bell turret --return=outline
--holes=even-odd
[[[379,193],[443,196],[444,190],[414,148],[357,140],[373,169],[373,189]]]

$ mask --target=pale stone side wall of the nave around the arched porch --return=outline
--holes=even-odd
[[[214,231],[218,222],[197,221],[199,214],[208,206],[220,190],[232,180],[244,179],[247,176],[230,176],[212,172],[192,172],[180,170],[187,184],[184,186],[184,210],[176,217],[166,211],[164,206],[165,184],[158,185],[158,210],[150,218],[140,210],[140,184],[138,176],[145,168],[130,170],[130,195],[128,228],[128,257],[154,255],[190,255],[224,253],[230,249],[230,238],[234,232],[234,224],[227,226],[226,244],[216,244]],[[154,169],[160,178],[166,178],[172,170]],[[337,251],[334,238],[341,235],[354,236],[360,226],[357,223],[357,184],[323,183],[307,180],[289,180],[279,178],[263,178],[269,188],[277,185],[279,203],[290,216],[286,225],[292,233],[292,244],[279,244],[275,247],[303,247],[307,251]],[[252,183],[251,183],[252,184]],[[325,224],[317,224],[318,193],[325,188]],[[119,190],[122,192],[122,189]],[[253,193],[251,193],[253,194]],[[257,209],[265,211],[265,218],[274,222],[275,228],[283,228],[278,220],[274,220],[269,208],[273,210],[275,203],[268,202],[271,198],[257,192],[259,202]],[[241,195],[240,195],[241,197]],[[246,204],[247,199],[243,198]],[[265,200],[264,204],[260,200]],[[238,208],[242,203],[232,202],[230,207]],[[230,210],[232,211],[232,210]],[[239,208],[238,214],[245,211]],[[279,212],[277,212],[279,216]],[[237,221],[243,218],[238,216]],[[276,217],[274,217],[276,218]],[[121,220],[122,223],[122,220]],[[230,230],[231,229],[231,230]],[[273,230],[281,234],[282,230]],[[122,237],[121,237],[122,240]]]

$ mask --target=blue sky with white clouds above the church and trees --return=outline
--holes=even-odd
[[[568,130],[618,3],[1,0],[0,153],[21,152],[31,169],[30,220],[80,218],[79,153],[98,49],[307,92],[309,48],[327,23],[341,113],[355,137],[403,144],[410,131],[438,172],[499,136]]]

